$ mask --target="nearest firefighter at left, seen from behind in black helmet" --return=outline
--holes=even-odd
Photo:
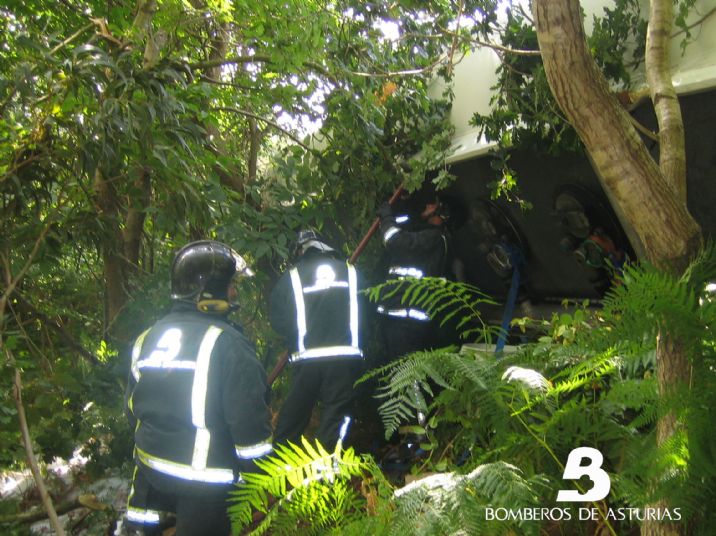
[[[171,268],[171,312],[134,343],[127,413],[135,471],[126,521],[159,534],[226,536],[229,491],[272,451],[263,367],[226,316],[244,260],[215,241],[193,242]]]

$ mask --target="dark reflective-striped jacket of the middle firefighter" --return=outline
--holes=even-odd
[[[271,325],[291,350],[290,361],[361,359],[358,273],[331,254],[309,249],[271,293]]]

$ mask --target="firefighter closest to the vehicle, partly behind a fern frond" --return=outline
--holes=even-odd
[[[419,218],[412,218],[385,204],[378,216],[385,245],[386,280],[445,276],[450,267],[446,205],[437,199],[430,200]],[[427,350],[440,340],[436,322],[422,309],[406,306],[401,300],[402,295],[396,293],[379,300],[377,306],[386,361]]]

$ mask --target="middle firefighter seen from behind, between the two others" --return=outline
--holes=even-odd
[[[359,276],[313,230],[299,232],[294,254],[298,261],[271,293],[271,325],[289,346],[292,369],[275,439],[300,444],[320,403],[316,436],[330,452],[347,432],[363,365]]]

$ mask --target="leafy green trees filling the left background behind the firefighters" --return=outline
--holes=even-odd
[[[173,252],[209,237],[250,259],[240,314],[270,350],[256,304],[296,230],[348,248],[377,199],[442,164],[447,103],[427,87],[450,37],[425,37],[412,5],[66,4],[0,7],[3,294],[18,278],[0,335],[42,457],[83,444],[104,466],[127,457],[126,347],[168,305]],[[404,40],[380,30],[394,18]],[[3,465],[22,463],[18,444],[4,427]]]

